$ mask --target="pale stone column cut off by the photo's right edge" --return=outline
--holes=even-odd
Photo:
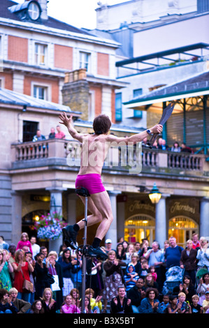
[[[209,237],[209,197],[203,197],[200,204],[200,235],[199,237]]]

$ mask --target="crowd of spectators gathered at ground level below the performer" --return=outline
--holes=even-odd
[[[59,253],[23,232],[7,244],[0,237],[0,313],[209,313],[208,238],[197,234],[185,248],[175,237],[152,245],[106,239],[107,260],[87,258],[82,295],[82,258],[65,245]],[[170,269],[182,272],[166,286]],[[26,283],[27,281],[27,283]]]

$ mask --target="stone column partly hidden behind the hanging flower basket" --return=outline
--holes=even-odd
[[[47,188],[50,191],[50,213],[52,214],[54,211],[62,216],[62,193],[66,189],[64,188]],[[48,251],[56,251],[59,253],[59,247],[62,245],[62,234],[58,239],[49,241],[49,249]]]

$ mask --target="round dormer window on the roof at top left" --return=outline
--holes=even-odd
[[[41,17],[41,6],[35,0],[24,1],[24,3],[9,7],[8,10],[20,17],[20,20],[36,22]]]

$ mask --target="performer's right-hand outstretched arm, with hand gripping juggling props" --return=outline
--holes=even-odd
[[[153,126],[152,128],[150,128],[151,133],[161,133],[163,129],[163,126],[161,126],[161,124],[156,124],[155,126]],[[136,133],[135,135],[131,135],[131,137],[116,137],[115,135],[108,135],[108,141],[110,142],[125,142],[126,144],[128,144],[128,142],[134,142],[134,144],[136,144],[136,142],[140,142],[143,141],[145,139],[145,137],[147,137],[147,131],[143,131],[140,133]]]

